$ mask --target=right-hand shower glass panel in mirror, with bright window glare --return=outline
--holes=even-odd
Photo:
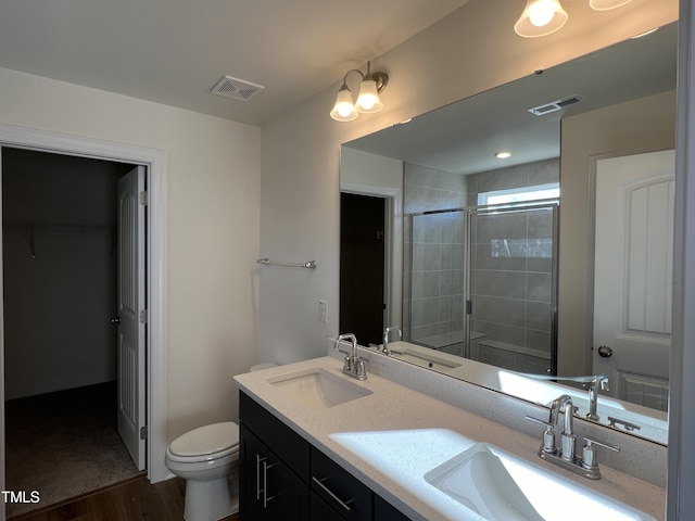
[[[465,356],[557,374],[557,205],[471,209]]]

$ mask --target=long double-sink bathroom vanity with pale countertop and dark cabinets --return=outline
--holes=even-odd
[[[371,355],[359,382],[323,357],[235,377],[242,519],[505,519],[497,505],[508,501],[528,510],[519,519],[664,519],[664,487],[604,454],[601,480],[571,474],[538,457],[542,430],[528,435],[401,385],[379,374],[382,364],[407,366]],[[458,492],[452,469],[467,472]]]

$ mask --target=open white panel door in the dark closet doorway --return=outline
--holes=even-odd
[[[146,461],[144,167],[118,180],[118,433]]]

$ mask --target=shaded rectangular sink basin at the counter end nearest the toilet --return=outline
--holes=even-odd
[[[267,381],[301,405],[319,410],[371,394],[370,390],[320,368],[281,374]]]

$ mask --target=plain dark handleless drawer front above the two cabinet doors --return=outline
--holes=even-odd
[[[239,393],[239,418],[247,429],[292,469],[309,481],[309,443],[243,392]]]

